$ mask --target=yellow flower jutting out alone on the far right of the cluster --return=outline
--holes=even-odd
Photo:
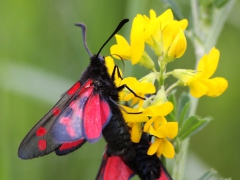
[[[192,96],[199,98],[203,95],[217,97],[228,87],[228,82],[222,77],[209,79],[217,69],[219,51],[214,47],[209,54],[204,55],[198,64],[197,73],[191,70],[174,70],[173,76],[183,85],[188,85]]]

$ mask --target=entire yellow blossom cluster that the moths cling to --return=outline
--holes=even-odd
[[[115,35],[117,44],[110,48],[111,54],[116,55],[114,56],[116,59],[121,57],[130,60],[132,65],[140,64],[152,71],[140,80],[134,77],[123,80],[115,79],[117,86],[126,84],[138,96],[146,98],[145,100],[140,99],[128,90],[120,93],[121,101],[130,106],[122,105],[126,112],[141,112],[141,114],[128,114],[122,111],[124,119],[130,127],[132,141],[138,143],[143,131],[154,137],[148,150],[149,155],[156,153],[158,156],[174,157],[175,151],[171,140],[177,136],[178,122],[175,122],[175,119],[168,122],[165,118],[174,108],[167,98],[172,88],[177,85],[188,85],[190,93],[194,97],[219,96],[227,88],[228,83],[224,78],[209,79],[215,72],[219,60],[219,51],[215,48],[208,55],[203,56],[197,71],[175,69],[165,72],[167,63],[180,58],[186,50],[187,41],[184,30],[187,25],[186,19],[174,20],[170,9],[158,17],[154,10],[150,10],[149,17],[138,14],[134,18],[130,43],[123,36]],[[146,45],[158,57],[157,63],[154,63],[145,51]],[[159,65],[159,72],[156,70],[155,64]],[[114,63],[110,57],[106,58],[106,66],[109,74],[112,74]],[[178,82],[165,90],[164,80],[169,75],[176,77]],[[159,82],[157,91],[154,86],[155,80]]]

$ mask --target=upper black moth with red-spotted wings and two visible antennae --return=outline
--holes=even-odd
[[[126,86],[115,86],[114,74],[118,67],[115,66],[110,76],[105,59],[100,56],[102,48],[126,22],[128,19],[120,22],[96,55],[88,50],[85,25],[76,24],[82,28],[84,45],[91,56],[90,65],[80,80],[26,135],[18,149],[20,158],[36,158],[52,151],[65,155],[86,141],[98,141],[102,134],[109,145],[108,155],[121,155],[126,160],[135,157],[129,129],[117,105],[118,92]]]

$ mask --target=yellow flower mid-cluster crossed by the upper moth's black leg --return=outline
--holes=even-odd
[[[133,92],[135,92],[139,97],[145,97],[146,94],[155,93],[156,89],[152,83],[149,82],[139,82],[134,77],[124,78],[121,81],[121,85],[126,84]],[[123,92],[124,95],[120,95],[124,101],[132,100],[132,105],[139,103],[138,107],[142,107],[143,99],[136,97],[132,92],[128,92],[127,94]]]

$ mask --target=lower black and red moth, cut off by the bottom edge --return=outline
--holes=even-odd
[[[142,180],[172,180],[161,160],[156,154],[147,155],[149,138],[142,134],[139,143],[133,143],[136,156],[132,160],[125,160],[121,156],[103,155],[102,164],[97,175],[97,180],[128,180],[137,174]]]

